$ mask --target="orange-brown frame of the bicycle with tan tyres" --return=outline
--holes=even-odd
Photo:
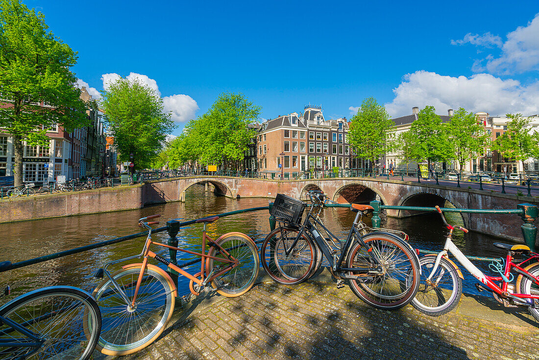
[[[143,248],[142,253],[140,255],[131,256],[131,257],[127,257],[126,259],[121,259],[121,260],[116,260],[116,261],[113,261],[113,262],[109,262],[109,263],[105,264],[105,266],[103,266],[103,272],[107,275],[108,279],[113,283],[116,290],[119,291],[120,296],[123,298],[123,300],[126,301],[126,303],[130,303],[130,305],[132,307],[135,306],[136,298],[137,298],[137,295],[139,294],[139,289],[140,289],[140,285],[142,283],[144,270],[146,270],[146,268],[147,268],[148,258],[149,257],[151,257],[151,258],[165,264],[170,269],[176,271],[179,274],[182,274],[183,276],[187,277],[189,280],[194,281],[194,282],[196,282],[197,284],[199,284],[201,286],[206,286],[206,284],[211,282],[216,277],[218,277],[220,275],[223,275],[224,273],[226,273],[226,271],[229,271],[229,270],[231,270],[231,269],[233,269],[233,268],[235,268],[235,267],[237,267],[239,265],[239,261],[237,259],[234,259],[234,257],[229,252],[227,252],[225,249],[223,249],[221,246],[219,246],[219,244],[216,244],[215,242],[213,242],[213,239],[211,239],[211,237],[206,234],[206,223],[204,223],[204,230],[202,232],[202,253],[192,252],[191,250],[186,250],[186,249],[182,249],[182,248],[178,248],[178,247],[174,247],[174,246],[170,246],[170,245],[165,245],[165,244],[162,244],[162,243],[159,243],[159,242],[151,241],[151,230],[152,230],[152,228],[150,226],[146,225],[146,224],[144,224],[144,226],[146,226],[148,228],[148,237],[146,238],[146,242],[144,243],[144,248]],[[221,250],[227,256],[227,259],[224,259],[223,257],[216,257],[216,256],[208,255],[206,253],[206,239],[209,240],[208,243],[211,244],[211,246],[215,246],[215,247],[219,248],[219,250]],[[155,244],[155,245],[161,246],[161,247],[165,247],[165,248],[168,248],[168,249],[171,249],[171,250],[180,251],[180,252],[183,252],[183,253],[188,253],[188,254],[191,254],[191,255],[201,256],[201,273],[200,273],[201,274],[201,279],[197,279],[195,276],[189,274],[187,271],[183,270],[182,268],[179,268],[178,266],[171,263],[170,261],[168,261],[166,259],[163,259],[163,257],[161,257],[161,256],[157,255],[156,253],[150,251],[149,247],[152,244]],[[122,262],[122,261],[136,259],[137,257],[139,257],[139,258],[143,257],[144,260],[142,261],[142,267],[140,269],[139,277],[137,278],[136,287],[135,287],[135,293],[133,295],[133,299],[129,300],[129,298],[127,297],[127,294],[125,293],[125,291],[123,291],[123,289],[118,285],[118,283],[116,283],[114,281],[113,277],[107,271],[107,267],[112,265],[112,264],[119,263],[119,262]],[[210,271],[210,273],[206,275],[205,263],[206,263],[206,261],[208,259],[214,259],[214,260],[227,262],[227,263],[229,263],[229,266],[227,266],[226,268],[218,271],[218,273],[216,273],[216,274],[213,274],[213,269],[212,269]]]

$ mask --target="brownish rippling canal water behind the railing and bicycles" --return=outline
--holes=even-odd
[[[262,198],[234,200],[216,196],[211,192],[205,192],[203,186],[196,185],[188,189],[186,201],[183,203],[171,202],[121,212],[5,223],[0,225],[2,233],[0,261],[23,261],[137,233],[140,232],[137,220],[153,214],[161,214],[161,218],[158,219],[161,221],[159,226],[164,226],[165,222],[171,219],[190,220],[232,210],[267,206],[267,204],[268,199]],[[92,204],[88,204],[88,206],[92,206]],[[324,209],[322,220],[332,233],[344,238],[354,220],[354,215],[348,208],[328,208]],[[227,216],[210,224],[207,231],[213,239],[217,239],[219,235],[227,232],[238,231],[251,236],[255,241],[263,240],[269,232],[268,216],[267,210]],[[383,227],[399,229],[409,234],[410,243],[414,248],[436,251],[442,249],[447,229],[443,226],[438,214],[413,216],[406,219],[386,218],[383,214],[381,217]],[[458,220],[457,216],[454,221],[458,222]],[[367,223],[370,223],[370,219],[367,219]],[[202,225],[194,224],[181,228],[177,236],[179,247],[199,252],[201,250],[201,234]],[[166,232],[154,236],[154,240],[167,243],[168,235]],[[0,304],[5,303],[9,298],[23,294],[25,291],[52,285],[72,285],[92,291],[98,283],[93,279],[96,269],[108,261],[140,254],[144,240],[144,237],[128,240],[0,273],[0,287],[4,288],[9,284],[12,288],[12,295],[8,298],[4,297],[0,300]],[[466,255],[505,256],[503,250],[492,246],[492,243],[497,240],[486,235],[476,233],[463,235],[456,232],[453,241]],[[155,247],[153,251],[168,259],[167,249]],[[192,260],[193,257],[178,252],[177,259],[181,264]],[[122,264],[133,262],[138,261],[135,259]],[[481,270],[488,271],[486,263],[477,264],[480,265]],[[121,264],[118,264],[114,269],[119,269],[120,266]],[[195,274],[200,270],[200,264],[197,263],[186,269],[191,274]],[[475,279],[467,274],[464,268],[461,269],[466,278],[464,291],[476,294]],[[180,277],[178,290],[180,295],[189,293],[188,282],[185,281],[185,278]]]

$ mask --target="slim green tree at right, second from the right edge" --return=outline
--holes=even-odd
[[[462,107],[455,111],[447,125],[453,158],[459,161],[462,171],[466,160],[475,153],[482,153],[485,150],[489,137],[475,115],[467,113]]]

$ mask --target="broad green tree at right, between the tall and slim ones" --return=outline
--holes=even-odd
[[[402,153],[405,159],[416,161],[445,161],[451,158],[451,144],[446,126],[434,113],[434,106],[419,111],[410,130],[402,135]]]

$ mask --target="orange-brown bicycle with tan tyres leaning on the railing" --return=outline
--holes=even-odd
[[[152,241],[151,225],[159,222],[148,220],[160,216],[139,220],[139,226],[148,229],[140,255],[108,262],[95,274],[95,277],[104,277],[93,292],[102,316],[101,337],[96,348],[103,354],[127,355],[147,347],[163,332],[172,316],[176,284],[165,270],[148,263],[149,258],[190,279],[189,290],[194,295],[208,289],[226,297],[240,296],[251,289],[257,279],[260,267],[258,249],[249,236],[234,232],[214,241],[206,234],[206,225],[219,216],[196,221],[204,225],[200,253]],[[195,275],[187,273],[152,252],[152,245],[201,256],[201,271]],[[206,246],[210,246],[207,253]],[[107,271],[112,264],[137,257],[143,258],[142,263],[123,266],[114,274]]]

